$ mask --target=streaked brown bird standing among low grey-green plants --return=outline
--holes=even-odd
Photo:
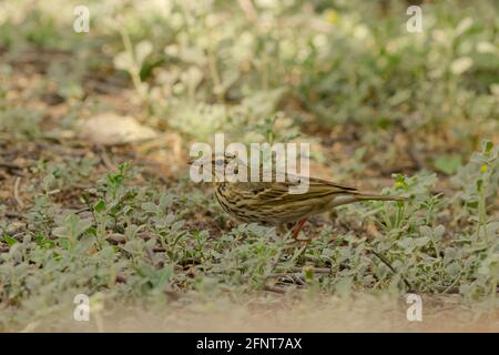
[[[236,161],[234,161],[236,160]],[[190,161],[191,165],[200,161]],[[204,162],[205,163],[205,162]],[[359,201],[405,201],[403,196],[371,194],[359,191],[357,187],[338,184],[332,181],[308,178],[308,190],[305,193],[292,194],[289,187],[296,186],[302,176],[288,175],[284,181],[276,181],[276,173],[273,171],[271,182],[240,182],[227,181],[226,179],[217,179],[217,170],[215,166],[227,166],[235,163],[238,169],[249,168],[235,155],[224,154],[223,156],[214,156],[210,162],[212,166],[212,181],[216,200],[222,209],[234,216],[236,220],[246,223],[257,223],[261,225],[273,225],[283,227],[289,223],[295,223],[292,234],[294,240],[298,239],[298,234],[306,221],[313,216],[339,205],[355,203]],[[262,173],[262,165],[261,165]],[[224,170],[222,170],[224,171]],[[249,176],[249,173],[247,174]]]

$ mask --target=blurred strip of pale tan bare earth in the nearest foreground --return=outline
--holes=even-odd
[[[189,300],[189,298],[187,298]],[[100,305],[89,322],[72,308],[29,324],[26,332],[499,332],[499,311],[466,305],[459,296],[424,296],[422,321],[409,322],[405,297],[299,297],[262,293],[234,303]],[[241,301],[241,300],[240,300]]]

